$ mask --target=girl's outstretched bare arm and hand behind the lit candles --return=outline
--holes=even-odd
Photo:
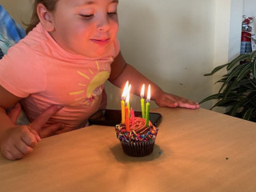
[[[189,99],[178,97],[174,94],[168,94],[161,90],[159,86],[151,82],[143,74],[139,73],[138,70],[134,69],[133,66],[130,66],[126,63],[122,57],[121,52],[114,62],[111,64],[111,74],[109,81],[115,86],[122,88],[126,81],[129,81],[133,86],[132,90],[134,94],[140,94],[142,84],[150,84],[151,86],[151,99],[158,104],[158,106],[169,106],[169,107],[185,107],[190,109],[197,109],[199,105],[197,102],[192,102]]]

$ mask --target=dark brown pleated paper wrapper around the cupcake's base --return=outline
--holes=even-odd
[[[154,150],[154,140],[148,142],[121,142],[122,150],[125,154],[132,157],[144,157],[149,155]]]

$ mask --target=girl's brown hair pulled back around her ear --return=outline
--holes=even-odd
[[[47,10],[54,11],[57,2],[58,0],[34,0],[33,12],[30,19],[30,23],[26,27],[26,34],[28,34],[30,30],[33,30],[34,27],[38,25],[38,22],[40,22],[37,13],[38,4],[42,3],[44,6],[46,6]]]

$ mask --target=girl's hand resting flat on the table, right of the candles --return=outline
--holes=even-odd
[[[188,109],[198,109],[200,106],[198,102],[192,102],[187,98],[182,98],[174,94],[167,94],[162,92],[158,97],[154,99],[154,102],[158,106],[168,106],[168,107],[184,107]]]

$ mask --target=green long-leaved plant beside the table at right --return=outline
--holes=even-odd
[[[256,42],[255,39],[253,41]],[[224,67],[228,72],[218,80],[222,83],[218,94],[210,95],[200,103],[217,99],[210,110],[216,106],[226,107],[225,114],[256,122],[256,50],[250,54],[240,54],[204,76],[213,75]]]

